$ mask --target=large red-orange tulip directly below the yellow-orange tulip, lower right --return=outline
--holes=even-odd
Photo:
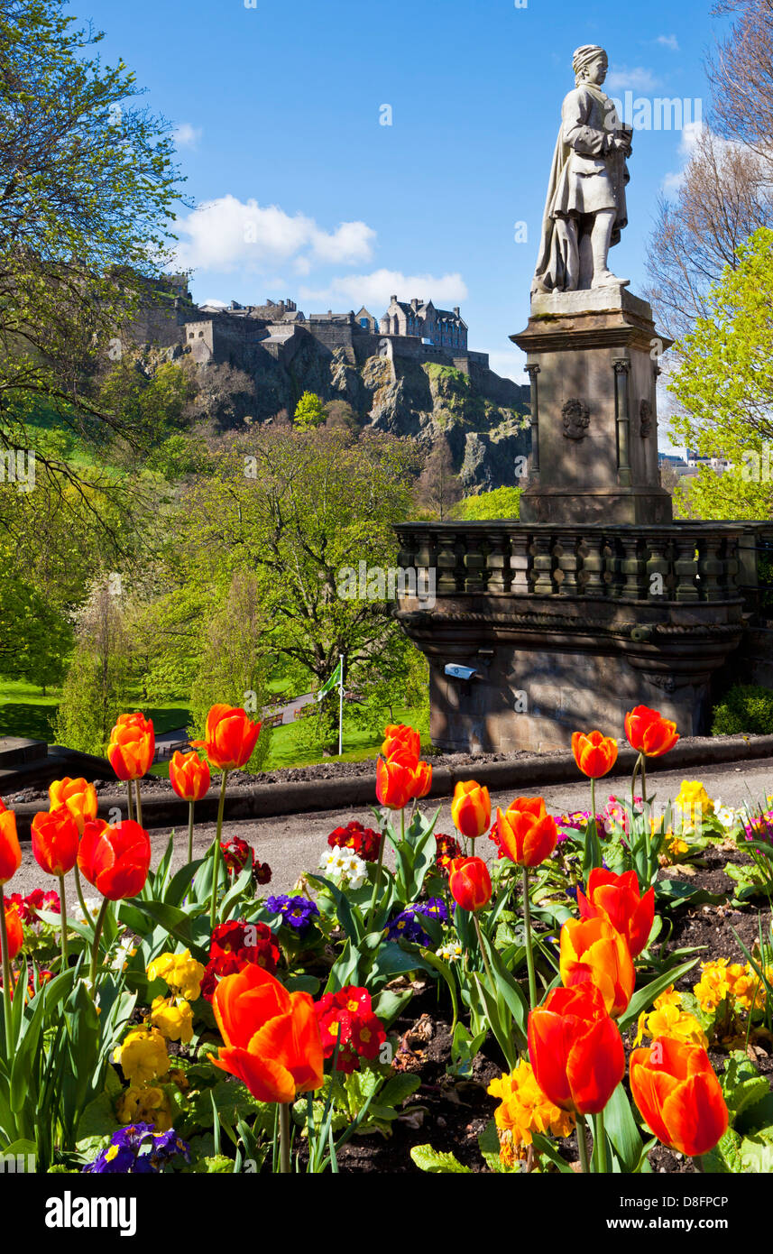
[[[554,988],[529,1014],[537,1085],[561,1110],[598,1115],[625,1073],[625,1050],[595,984]]]

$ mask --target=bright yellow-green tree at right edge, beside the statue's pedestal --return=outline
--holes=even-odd
[[[723,474],[702,468],[685,490],[697,518],[773,517],[773,231],[755,231],[708,297],[708,315],[679,345],[669,382],[672,433]]]

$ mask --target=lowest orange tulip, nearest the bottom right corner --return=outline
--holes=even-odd
[[[728,1129],[728,1107],[699,1045],[656,1037],[630,1056],[630,1091],[648,1127],[678,1154],[708,1154]]]

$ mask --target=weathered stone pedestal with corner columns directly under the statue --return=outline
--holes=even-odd
[[[660,487],[655,384],[670,340],[624,287],[534,296],[510,339],[531,380],[531,458],[521,522],[672,522]]]

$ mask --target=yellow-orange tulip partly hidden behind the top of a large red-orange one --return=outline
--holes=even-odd
[[[565,988],[593,981],[614,1018],[628,1007],[636,983],[625,938],[609,919],[566,919],[561,928],[561,981]]]

